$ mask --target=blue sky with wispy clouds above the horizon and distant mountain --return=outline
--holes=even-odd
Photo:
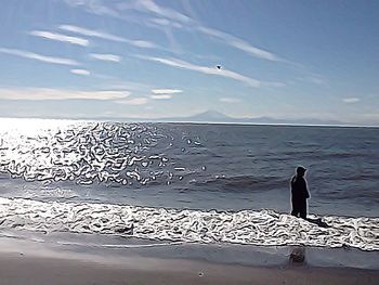
[[[379,1],[2,0],[0,116],[379,126]]]

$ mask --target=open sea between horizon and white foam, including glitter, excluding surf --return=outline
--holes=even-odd
[[[301,161],[311,212],[376,217],[378,140],[367,128],[0,119],[0,193],[286,211]]]

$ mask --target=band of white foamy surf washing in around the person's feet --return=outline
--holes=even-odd
[[[172,242],[379,250],[379,218],[325,216],[322,220],[317,225],[274,210],[205,211],[0,198],[2,230],[110,234]],[[319,226],[323,224],[328,226]]]

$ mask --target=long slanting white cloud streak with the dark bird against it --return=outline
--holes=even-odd
[[[165,59],[165,57],[154,57],[154,56],[144,56],[144,55],[135,55],[135,56],[141,60],[157,62],[157,63],[177,67],[177,68],[183,68],[183,69],[194,70],[202,74],[231,78],[231,79],[244,82],[250,87],[260,86],[259,80],[244,76],[236,72],[227,70],[227,69],[217,69],[214,67],[195,65],[195,64],[192,64],[182,60],[173,59],[173,57]]]

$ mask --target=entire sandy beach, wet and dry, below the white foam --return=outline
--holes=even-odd
[[[379,278],[377,251],[303,247],[304,261],[291,262],[299,247],[170,245],[116,236],[24,234],[24,239],[0,237],[3,284],[328,285],[376,284]],[[371,264],[365,267],[369,259]]]

